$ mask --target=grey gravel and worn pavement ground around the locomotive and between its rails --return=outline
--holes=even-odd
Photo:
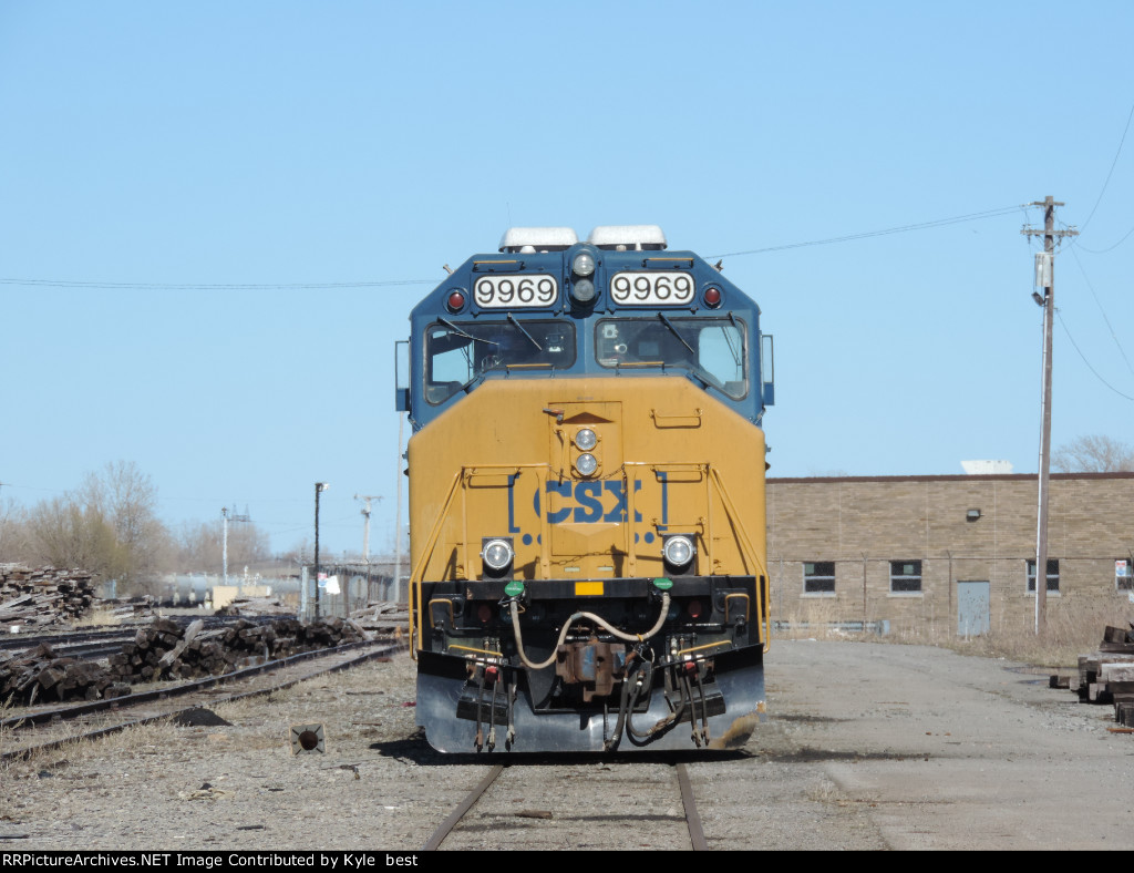
[[[923,646],[777,642],[765,663],[769,721],[691,762],[710,848],[1134,848],[1134,736],[1107,731],[1110,706]],[[420,849],[485,768],[418,738],[413,676],[401,656],[215,705],[228,724],[0,765],[0,850]],[[314,724],[325,754],[293,755]],[[670,773],[518,762],[443,848],[682,848]]]

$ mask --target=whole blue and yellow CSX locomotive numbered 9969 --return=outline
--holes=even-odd
[[[719,266],[655,226],[513,228],[413,310],[397,406],[434,748],[725,749],[762,720],[771,338]]]

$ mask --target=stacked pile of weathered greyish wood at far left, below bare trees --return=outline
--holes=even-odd
[[[81,618],[96,595],[92,574],[0,565],[0,625],[59,625]]]

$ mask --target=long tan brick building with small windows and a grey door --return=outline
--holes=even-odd
[[[779,621],[981,633],[1031,619],[1034,475],[768,480]],[[1052,474],[1048,604],[1134,597],[1134,473]]]

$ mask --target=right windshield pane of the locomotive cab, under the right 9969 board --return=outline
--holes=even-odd
[[[604,319],[595,325],[601,366],[684,370],[734,400],[748,392],[744,323],[738,319]]]

